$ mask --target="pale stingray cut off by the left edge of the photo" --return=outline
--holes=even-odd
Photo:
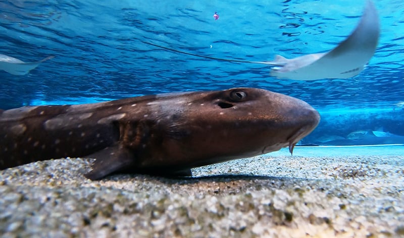
[[[42,62],[47,61],[54,56],[49,56],[41,61],[25,63],[18,58],[5,54],[0,54],[0,70],[4,70],[12,75],[26,75],[30,70],[38,67]]]

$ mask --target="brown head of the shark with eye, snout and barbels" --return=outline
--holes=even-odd
[[[167,150],[176,158],[195,158],[193,165],[198,166],[283,147],[292,153],[294,145],[320,121],[308,103],[263,89],[233,88],[186,96],[187,106],[180,110],[178,120],[171,121],[168,133],[178,137],[168,143]]]

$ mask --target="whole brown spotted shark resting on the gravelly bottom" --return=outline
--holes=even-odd
[[[308,103],[256,88],[0,111],[0,169],[95,158],[85,176],[191,175],[190,168],[294,145],[320,120]]]

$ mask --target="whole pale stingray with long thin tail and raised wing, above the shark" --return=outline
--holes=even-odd
[[[367,0],[364,13],[355,30],[334,49],[325,53],[313,53],[296,58],[276,55],[274,61],[241,61],[193,54],[164,47],[154,43],[143,43],[197,57],[218,61],[264,64],[273,66],[271,76],[293,80],[346,79],[362,72],[376,51],[380,35],[379,18],[374,4]]]

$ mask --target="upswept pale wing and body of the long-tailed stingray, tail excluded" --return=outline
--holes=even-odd
[[[373,3],[368,0],[358,26],[337,47],[312,64],[301,68],[290,71],[282,71],[282,67],[273,68],[271,76],[295,80],[346,79],[356,76],[373,56],[379,35],[377,11]]]

